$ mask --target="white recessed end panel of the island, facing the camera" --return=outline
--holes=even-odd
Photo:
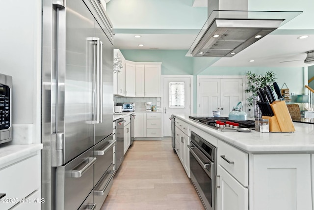
[[[311,154],[256,154],[252,159],[250,209],[313,210]]]

